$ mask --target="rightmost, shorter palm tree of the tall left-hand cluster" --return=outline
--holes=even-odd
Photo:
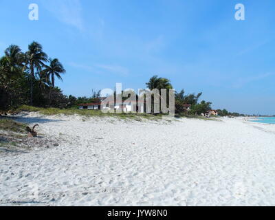
[[[51,94],[52,89],[54,89],[54,78],[57,77],[58,79],[62,80],[61,74],[65,74],[66,70],[64,69],[63,65],[58,61],[57,58],[50,58],[50,65],[46,65],[45,69],[43,69],[43,72],[45,72],[46,78],[50,79],[50,95],[49,95],[49,105],[51,102]]]

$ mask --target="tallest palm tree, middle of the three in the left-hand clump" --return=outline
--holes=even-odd
[[[34,71],[36,69],[37,72],[41,72],[43,66],[45,66],[43,62],[47,62],[47,54],[43,52],[42,45],[34,41],[29,45],[29,50],[25,56],[25,63],[30,69],[30,104],[32,105]]]

